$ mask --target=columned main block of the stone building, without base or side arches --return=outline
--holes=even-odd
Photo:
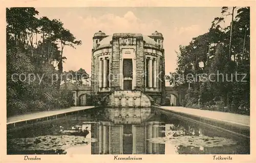
[[[164,72],[161,33],[94,34],[91,94],[96,98],[116,90],[140,90],[154,102],[164,104]]]

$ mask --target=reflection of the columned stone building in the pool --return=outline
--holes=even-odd
[[[148,119],[151,118],[150,113],[144,117],[140,114],[132,114],[137,117],[131,119],[125,114],[124,117],[119,116],[120,114],[113,115],[114,110],[109,109],[108,111],[112,113],[109,117],[106,116],[108,119],[110,118],[110,121],[92,124],[92,138],[98,140],[98,142],[92,143],[92,154],[164,154],[164,144],[155,144],[147,140],[164,136],[164,132],[161,131],[165,130],[159,122],[148,122]],[[132,110],[128,111],[128,115],[131,112]]]

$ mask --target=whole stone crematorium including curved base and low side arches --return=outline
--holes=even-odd
[[[74,91],[75,105],[94,105],[92,100],[97,99],[103,100],[105,106],[113,107],[119,106],[121,98],[120,106],[180,106],[184,96],[174,87],[165,86],[164,58],[163,36],[157,31],[150,36],[136,33],[106,35],[101,31],[95,33],[91,86],[69,88]],[[130,63],[125,65],[127,61]],[[123,74],[127,70],[132,72],[130,76]],[[141,96],[137,97],[136,92]]]

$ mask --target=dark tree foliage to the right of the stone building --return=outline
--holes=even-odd
[[[186,78],[176,77],[170,82],[187,92],[183,106],[249,114],[250,8],[223,7],[221,14],[212,21],[207,33],[193,38],[189,45],[180,46],[177,52],[176,73],[185,77],[198,74],[197,80],[190,82],[190,89]],[[220,23],[226,16],[231,16],[232,21],[230,26],[222,28]],[[203,66],[199,66],[200,63]],[[210,74],[218,72],[224,77],[209,78]],[[237,75],[236,80],[236,73],[246,74],[243,79],[246,82],[242,82],[244,75]]]

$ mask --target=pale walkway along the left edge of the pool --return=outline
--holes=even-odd
[[[60,110],[54,110],[54,111],[42,111],[42,112],[36,112],[36,113],[30,113],[30,114],[24,114],[24,115],[15,115],[13,117],[7,118],[7,125],[17,123],[17,122],[23,122],[23,121],[29,121],[29,120],[34,120],[34,119],[50,117],[50,116],[57,115],[57,114],[91,109],[91,108],[94,108],[94,106],[80,106],[80,107],[76,106],[76,107],[71,107],[68,109],[60,109]]]

